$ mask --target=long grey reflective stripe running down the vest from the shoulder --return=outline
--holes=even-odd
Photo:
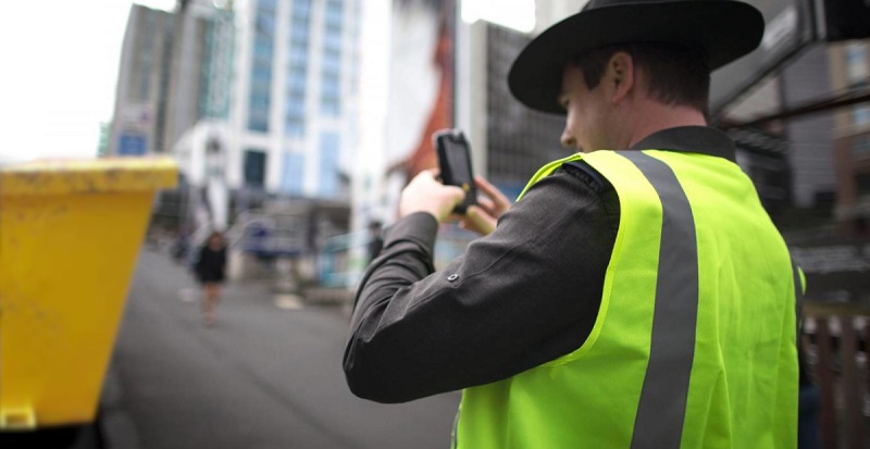
[[[662,207],[652,335],[632,448],[679,448],[695,357],[698,249],[695,219],[670,166],[641,151],[619,152],[646,176]]]

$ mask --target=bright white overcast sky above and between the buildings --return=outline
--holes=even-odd
[[[364,0],[388,1],[388,0]],[[114,108],[129,0],[3,1],[0,162],[92,158]],[[172,10],[175,0],[137,0]],[[463,17],[531,29],[533,0],[465,0]]]

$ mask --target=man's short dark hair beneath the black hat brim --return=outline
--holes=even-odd
[[[598,86],[607,63],[618,51],[632,57],[635,70],[643,71],[649,95],[664,104],[697,109],[707,115],[710,70],[704,51],[672,43],[621,43],[587,51],[571,63],[583,72],[592,90]]]

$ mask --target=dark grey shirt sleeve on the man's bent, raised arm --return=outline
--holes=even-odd
[[[386,230],[358,289],[344,357],[348,386],[403,402],[575,350],[597,315],[616,228],[598,189],[563,170],[442,271],[432,262],[435,219],[405,217]]]

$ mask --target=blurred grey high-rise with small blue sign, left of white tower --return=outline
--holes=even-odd
[[[132,5],[108,154],[170,153],[198,122],[226,120],[233,43],[229,2]]]

